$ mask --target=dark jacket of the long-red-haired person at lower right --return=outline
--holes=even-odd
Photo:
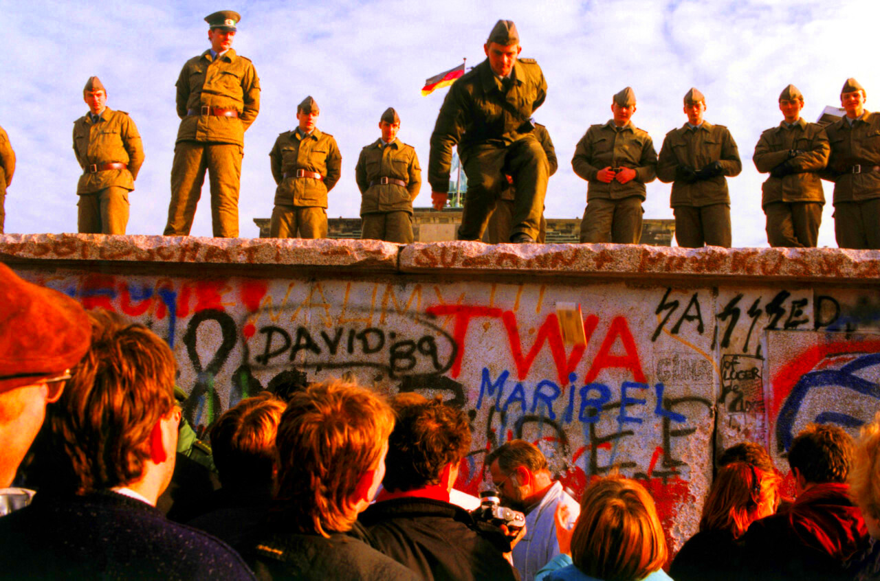
[[[732,581],[739,578],[742,552],[742,544],[730,532],[702,531],[682,545],[669,576],[675,581]]]

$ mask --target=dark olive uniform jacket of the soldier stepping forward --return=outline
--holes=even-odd
[[[453,146],[464,157],[474,145],[505,147],[532,133],[530,118],[546,98],[544,73],[533,59],[519,59],[510,82],[505,94],[487,59],[452,84],[431,134],[428,181],[433,191],[449,189]]]

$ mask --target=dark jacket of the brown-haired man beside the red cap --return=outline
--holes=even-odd
[[[38,492],[0,519],[0,579],[253,579],[222,541],[104,491]]]

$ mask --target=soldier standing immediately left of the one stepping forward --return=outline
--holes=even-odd
[[[361,237],[413,242],[413,200],[422,187],[415,149],[397,139],[400,116],[388,107],[379,120],[382,137],[361,149],[355,179],[361,190]]]

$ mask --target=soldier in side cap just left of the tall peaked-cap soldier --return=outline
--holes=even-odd
[[[89,113],[73,122],[73,152],[83,168],[77,184],[77,229],[84,234],[125,234],[128,192],[143,164],[135,121],[106,106],[106,89],[90,76],[83,89]]]

